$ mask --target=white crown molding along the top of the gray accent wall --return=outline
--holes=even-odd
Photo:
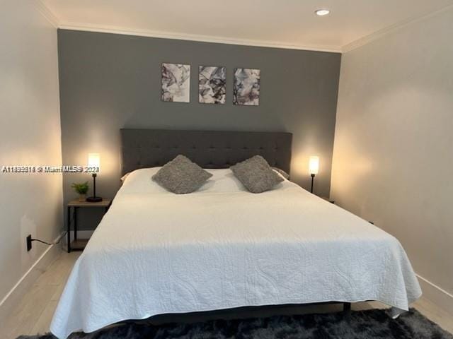
[[[82,30],[82,31],[88,31],[88,32],[103,32],[103,33],[113,33],[113,34],[121,34],[121,35],[136,35],[136,36],[140,36],[140,37],[160,37],[160,38],[165,38],[165,39],[188,40],[188,41],[198,41],[198,42],[214,42],[217,44],[239,44],[239,45],[243,45],[243,46],[253,46],[253,47],[273,47],[273,48],[281,48],[281,49],[302,49],[302,50],[306,50],[306,51],[341,53],[340,47],[282,44],[281,42],[275,42],[275,41],[234,39],[231,37],[213,37],[210,35],[173,33],[173,32],[163,32],[163,31],[157,31],[157,30],[139,30],[139,29],[117,27],[117,26],[93,25],[93,24],[84,24],[84,23],[61,22],[61,23],[59,23],[58,28],[60,28],[62,30]]]

